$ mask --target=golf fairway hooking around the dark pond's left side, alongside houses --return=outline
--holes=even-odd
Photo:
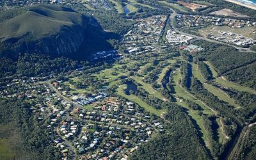
[[[122,97],[125,97],[125,99],[129,99],[132,102],[139,104],[142,108],[144,108],[149,113],[153,113],[157,116],[161,116],[163,113],[166,113],[166,109],[156,109],[156,108],[153,108],[152,106],[148,106],[147,103],[143,102],[143,100],[141,100],[139,97],[136,97],[135,95],[126,95],[124,93],[124,90],[126,88],[127,88],[127,85],[123,84],[118,87],[118,89],[116,90],[117,91],[116,93],[118,93],[118,95],[120,95]]]

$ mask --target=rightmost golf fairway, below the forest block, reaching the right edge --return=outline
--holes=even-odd
[[[248,93],[256,94],[256,91],[253,90],[252,88],[249,88],[249,87],[246,87],[246,86],[241,86],[240,84],[227,81],[227,79],[225,79],[224,77],[218,77],[218,73],[214,69],[213,65],[209,61],[206,61],[205,63],[211,69],[212,76],[215,77],[214,81],[216,83],[220,84],[221,86],[225,86],[227,88],[232,88],[234,90],[238,90],[240,92],[248,92]]]

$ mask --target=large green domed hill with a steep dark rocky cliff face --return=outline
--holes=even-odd
[[[0,12],[0,57],[19,53],[83,57],[111,49],[97,20],[70,8],[36,5]]]

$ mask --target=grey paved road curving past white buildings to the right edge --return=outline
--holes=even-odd
[[[223,45],[229,45],[231,47],[235,47],[236,49],[238,49],[239,51],[243,51],[243,52],[255,52],[255,51],[252,51],[251,49],[248,49],[248,48],[244,48],[244,47],[237,47],[236,45],[232,45],[232,44],[226,44],[224,42],[220,42],[220,41],[217,41],[217,40],[211,40],[209,38],[205,38],[205,37],[202,37],[202,36],[196,36],[196,35],[191,35],[189,33],[184,33],[182,31],[179,31],[179,29],[175,28],[175,26],[173,25],[173,21],[175,20],[175,17],[177,15],[177,13],[175,12],[175,10],[173,10],[172,8],[170,8],[170,10],[172,10],[172,15],[170,16],[170,19],[172,20],[172,28],[177,31],[177,33],[180,33],[182,35],[187,35],[187,36],[192,36],[198,40],[207,40],[208,42],[214,42],[214,43],[217,43],[217,44],[223,44]],[[255,52],[256,53],[256,52]]]

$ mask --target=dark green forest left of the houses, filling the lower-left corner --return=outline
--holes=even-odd
[[[18,159],[58,159],[47,122],[38,121],[30,108],[24,100],[0,99],[0,138],[8,139]]]

